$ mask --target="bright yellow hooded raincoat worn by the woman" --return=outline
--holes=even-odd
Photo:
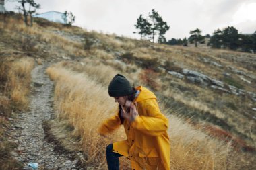
[[[139,96],[133,101],[139,116],[131,122],[125,120],[123,126],[127,140],[113,143],[113,152],[131,161],[132,169],[170,169],[170,141],[167,134],[168,119],[160,112],[156,96],[145,87],[137,87]],[[118,113],[105,120],[98,132],[106,135],[119,128]]]

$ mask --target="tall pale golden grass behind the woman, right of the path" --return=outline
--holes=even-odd
[[[55,109],[61,121],[71,126],[73,138],[80,138],[88,165],[104,169],[104,148],[113,141],[125,138],[123,129],[104,139],[96,129],[115,112],[117,106],[108,97],[106,85],[92,80],[84,73],[71,71],[70,65],[53,65],[47,73],[55,81]],[[100,68],[94,68],[98,71]],[[95,75],[96,77],[96,75]],[[112,75],[105,77],[110,81]],[[162,107],[163,108],[163,107]],[[168,112],[166,111],[166,114]],[[229,146],[214,140],[176,116],[170,120],[172,169],[228,169]],[[123,165],[127,166],[127,164]],[[126,169],[126,167],[124,167]]]

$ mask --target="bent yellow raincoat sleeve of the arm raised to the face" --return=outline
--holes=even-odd
[[[168,119],[160,112],[156,99],[148,99],[145,102],[145,116],[137,116],[131,126],[144,134],[160,136],[168,129]]]

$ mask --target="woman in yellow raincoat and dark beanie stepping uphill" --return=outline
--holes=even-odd
[[[156,96],[145,87],[131,87],[123,75],[115,75],[108,94],[119,103],[115,116],[105,120],[98,132],[105,136],[123,124],[127,140],[106,147],[108,169],[119,169],[119,157],[131,161],[132,169],[170,169],[168,119],[161,114]]]

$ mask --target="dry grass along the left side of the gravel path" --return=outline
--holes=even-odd
[[[7,141],[8,117],[13,110],[28,108],[30,93],[30,72],[34,68],[33,58],[1,58],[0,63],[0,169],[21,169],[17,161],[11,159],[13,144]]]

